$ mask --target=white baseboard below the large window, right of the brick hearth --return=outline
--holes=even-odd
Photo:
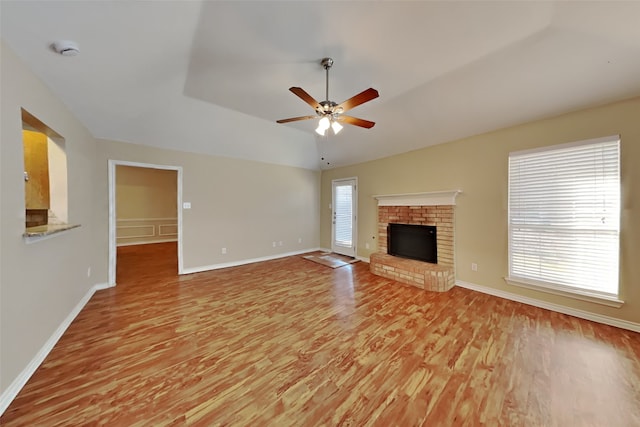
[[[596,323],[615,326],[617,328],[627,329],[633,332],[640,332],[640,323],[629,322],[627,320],[616,319],[615,317],[604,316],[602,314],[590,313],[588,311],[578,310],[576,308],[570,308],[570,307],[565,307],[559,304],[540,301],[534,298],[525,297],[522,295],[503,291],[500,289],[494,289],[488,286],[482,286],[482,285],[476,285],[475,283],[464,282],[462,280],[456,280],[456,286],[460,286],[461,288],[471,289],[472,291],[482,292],[483,294],[489,294],[496,297],[505,298],[511,301],[521,302],[523,304],[532,305],[534,307],[540,307],[540,308],[555,311],[558,313],[568,314],[570,316],[579,317],[581,319],[591,320]]]

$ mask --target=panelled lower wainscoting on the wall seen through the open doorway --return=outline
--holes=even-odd
[[[178,240],[177,218],[119,218],[116,220],[118,246]]]

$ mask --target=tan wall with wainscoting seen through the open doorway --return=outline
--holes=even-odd
[[[116,166],[118,245],[177,240],[178,173]]]

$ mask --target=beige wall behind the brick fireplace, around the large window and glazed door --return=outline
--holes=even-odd
[[[510,151],[620,134],[622,308],[507,285],[507,160]],[[345,142],[348,143],[348,142]],[[393,141],[389,141],[390,144]],[[330,247],[331,180],[358,177],[358,255],[377,247],[378,194],[461,189],[456,206],[458,280],[640,323],[640,98],[478,135],[322,174],[321,240]],[[369,243],[369,250],[364,249]],[[478,271],[471,271],[471,263]]]

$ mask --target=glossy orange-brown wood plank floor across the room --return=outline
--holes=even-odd
[[[125,247],[2,426],[639,426],[640,334],[301,257]]]

